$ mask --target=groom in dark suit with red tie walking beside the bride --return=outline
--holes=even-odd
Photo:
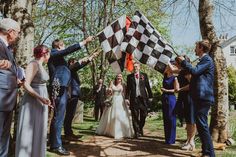
[[[134,73],[127,76],[125,99],[130,103],[135,138],[143,136],[143,127],[147,116],[148,99],[152,99],[152,91],[147,74],[142,73],[140,64],[134,63]]]

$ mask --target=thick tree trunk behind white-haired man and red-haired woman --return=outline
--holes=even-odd
[[[31,19],[33,4],[31,0],[5,0],[3,5],[3,16],[16,20],[21,25],[21,33],[17,44],[14,46],[16,61],[19,66],[25,67],[33,54],[34,47],[34,25]],[[18,92],[18,100],[22,98],[23,91]],[[16,122],[18,118],[18,105],[14,116],[14,135],[16,138]]]

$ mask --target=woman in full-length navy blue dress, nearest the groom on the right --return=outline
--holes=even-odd
[[[164,72],[162,90],[162,112],[164,121],[165,143],[174,144],[176,138],[176,96],[175,91],[179,90],[177,78],[173,75],[172,70],[167,66]]]

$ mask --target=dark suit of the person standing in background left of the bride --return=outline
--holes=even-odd
[[[95,106],[94,106],[94,116],[95,120],[98,120],[98,117],[102,117],[103,113],[103,105],[106,98],[106,86],[102,85],[101,89],[97,91],[99,88],[99,85],[96,85],[93,89],[93,95],[95,97]],[[99,110],[100,110],[100,116],[99,116]]]

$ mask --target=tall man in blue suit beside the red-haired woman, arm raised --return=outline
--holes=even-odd
[[[53,49],[51,50],[51,57],[48,61],[50,85],[52,87],[52,82],[58,80],[60,83],[60,92],[55,100],[54,117],[51,122],[49,140],[51,151],[60,155],[70,155],[70,153],[62,147],[61,140],[61,130],[68,100],[68,86],[71,81],[71,72],[64,56],[81,49],[81,47],[92,40],[93,37],[90,36],[83,42],[74,44],[68,48],[65,48],[63,41],[58,39],[54,40],[52,43]]]

